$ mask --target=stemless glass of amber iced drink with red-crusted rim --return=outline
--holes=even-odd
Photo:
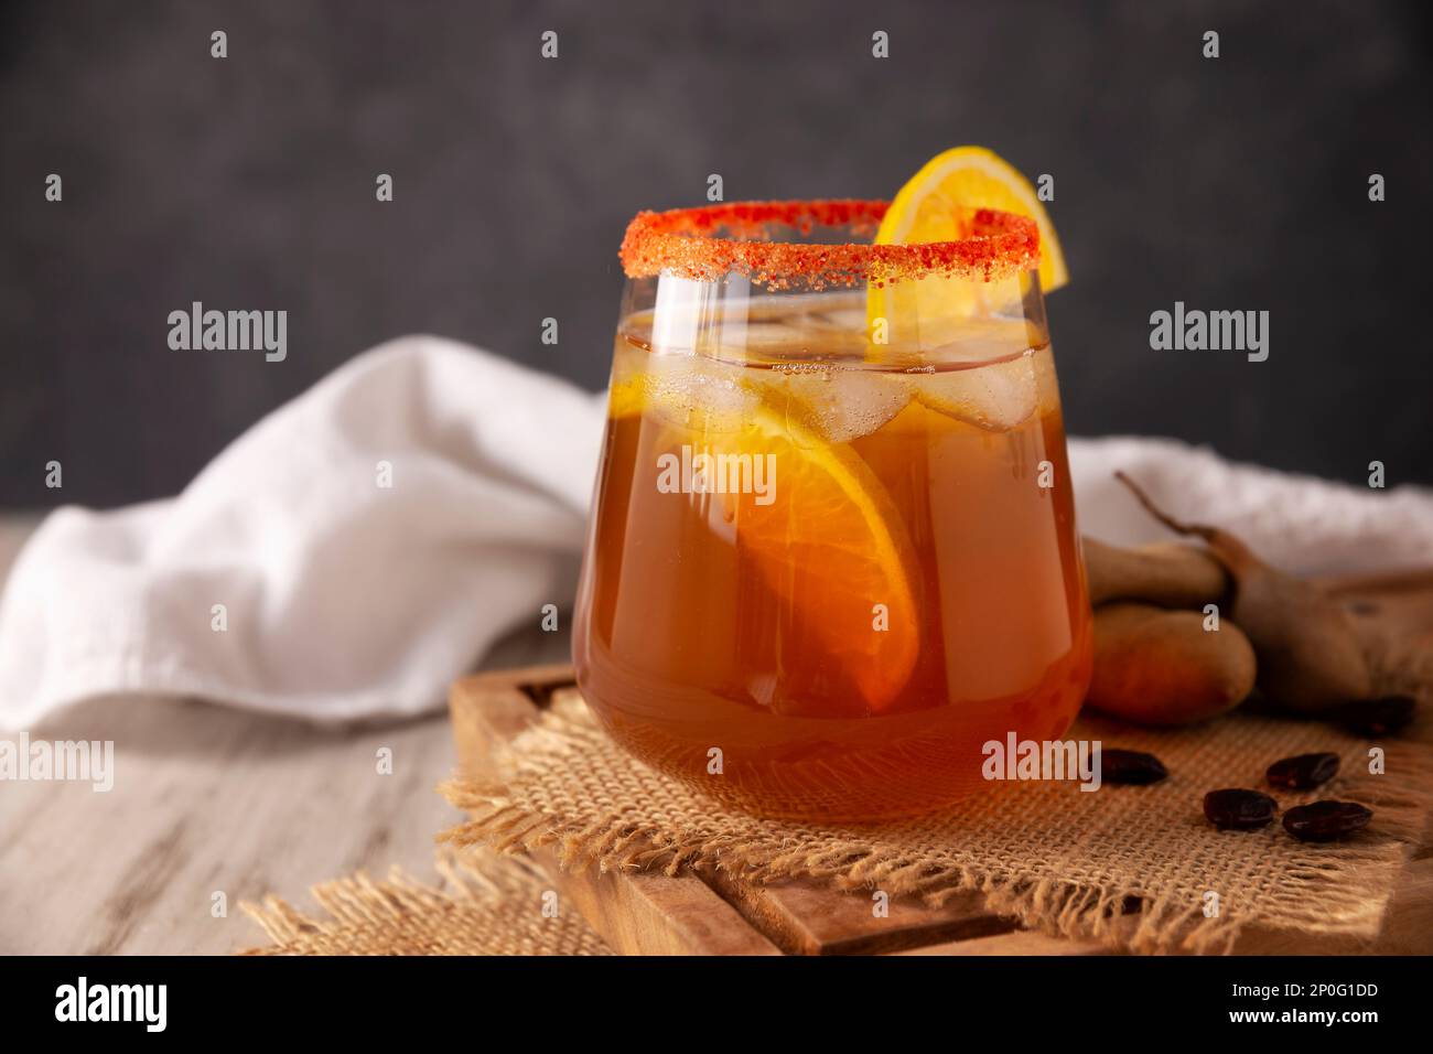
[[[884,202],[643,212],[577,684],[636,757],[784,819],[990,787],[1063,736],[1091,609],[1033,221],[876,245]]]

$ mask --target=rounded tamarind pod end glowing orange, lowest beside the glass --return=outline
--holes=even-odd
[[[1242,703],[1257,671],[1248,637],[1222,619],[1151,604],[1095,608],[1095,674],[1085,701],[1151,726],[1191,724]]]

